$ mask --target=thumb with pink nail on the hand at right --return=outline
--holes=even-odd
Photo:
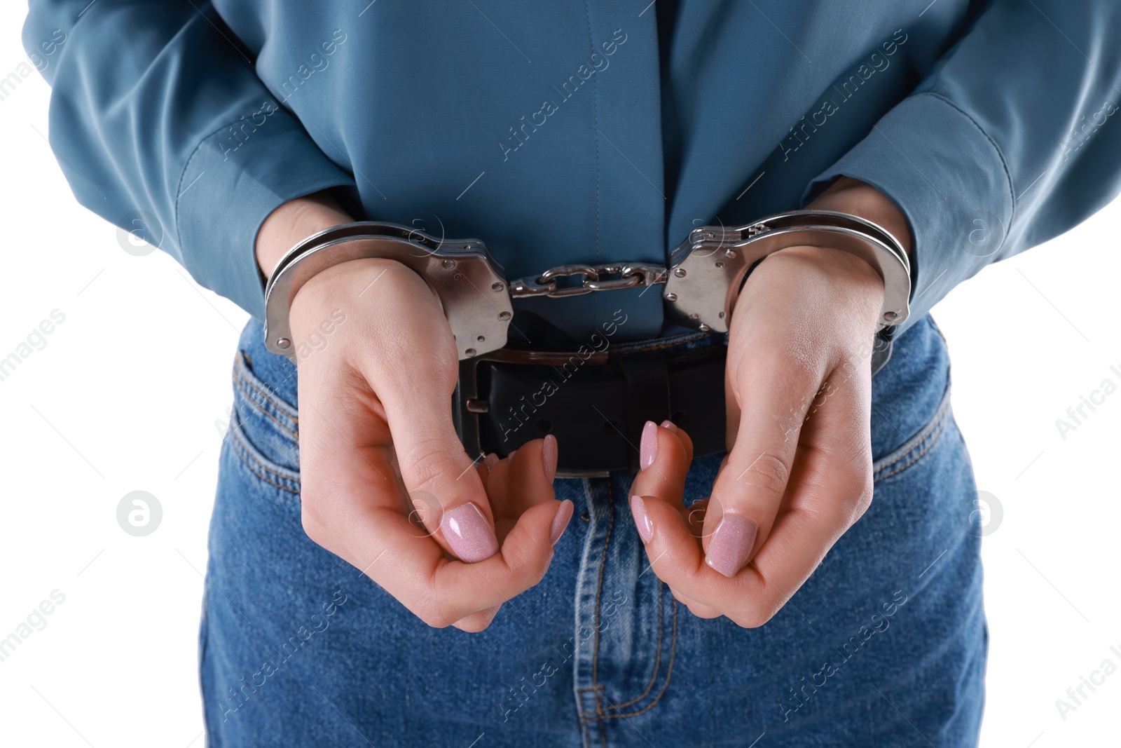
[[[733,359],[736,368],[729,371],[735,440],[713,483],[702,535],[706,562],[725,576],[747,565],[775,524],[802,422],[824,377],[815,357],[791,353],[788,345],[767,341],[756,350],[771,353]]]

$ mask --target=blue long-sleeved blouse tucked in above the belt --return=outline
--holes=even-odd
[[[325,188],[516,278],[849,175],[910,223],[914,322],[1118,194],[1119,33],[1118,0],[33,0],[22,38],[77,200],[257,318],[261,222]],[[638,289],[520,311],[621,306],[665,334]]]

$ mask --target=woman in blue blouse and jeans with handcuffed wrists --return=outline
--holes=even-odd
[[[974,745],[975,490],[927,312],[1117,193],[1119,17],[1105,0],[33,4],[29,50],[64,31],[43,72],[78,200],[155,216],[164,249],[252,315],[211,526],[210,745]],[[479,237],[512,280],[668,265],[695,227],[799,207],[908,255],[910,316],[874,376],[892,289],[828,242],[754,267],[726,336],[675,324],[648,287],[515,299],[510,351],[612,331],[599,352],[622,389],[557,423],[451,412],[473,369],[396,260],[312,277],[288,311],[295,361],[263,340],[280,258],[355,219]],[[664,395],[712,352],[715,386]],[[520,371],[485,366],[491,385]],[[488,454],[464,449],[473,423]],[[694,449],[714,434],[726,453]],[[595,473],[610,438],[633,464],[557,477]]]

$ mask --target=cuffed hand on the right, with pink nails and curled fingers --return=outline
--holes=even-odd
[[[864,260],[791,247],[761,262],[732,315],[730,451],[685,507],[688,435],[642,434],[631,510],[654,572],[697,616],[761,626],[872,500],[871,341],[883,283]]]

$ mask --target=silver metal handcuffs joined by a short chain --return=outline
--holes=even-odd
[[[743,280],[756,264],[793,246],[828,247],[871,265],[884,289],[877,338],[890,341],[895,325],[910,313],[910,262],[899,241],[876,223],[849,213],[791,211],[742,227],[696,228],[670,252],[669,267],[562,265],[512,281],[494,269],[495,262],[478,239],[437,239],[396,223],[344,223],[312,234],[280,259],[265,288],[265,343],[295,363],[288,324],[291,299],[317,273],[361,258],[397,260],[428,283],[443,305],[461,361],[504,348],[512,299],[527,296],[563,297],[665,284],[667,321],[722,333],[728,332]],[[583,279],[575,286],[560,286],[556,280],[578,276]]]

